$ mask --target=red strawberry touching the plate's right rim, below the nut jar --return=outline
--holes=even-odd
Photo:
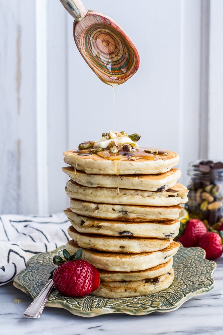
[[[206,251],[206,259],[216,259],[222,255],[221,237],[216,232],[207,232],[202,236],[198,246]]]

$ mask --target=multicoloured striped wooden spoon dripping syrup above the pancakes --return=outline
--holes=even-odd
[[[106,84],[122,84],[137,71],[139,54],[110,17],[86,10],[80,0],[60,0],[74,17],[74,40],[82,57]]]

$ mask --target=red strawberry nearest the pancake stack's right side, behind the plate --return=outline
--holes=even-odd
[[[198,219],[188,220],[186,228],[178,242],[181,242],[184,247],[197,247],[200,238],[207,232],[205,224]]]

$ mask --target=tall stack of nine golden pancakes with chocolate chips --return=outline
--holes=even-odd
[[[180,204],[188,190],[178,184],[179,161],[171,151],[117,156],[64,152],[70,208],[65,210],[72,238],[67,250],[83,248],[83,259],[97,267],[99,288],[92,294],[132,297],[163,290],[174,280],[173,256],[179,244]],[[101,151],[100,151],[101,152]],[[137,157],[137,159],[136,159]]]

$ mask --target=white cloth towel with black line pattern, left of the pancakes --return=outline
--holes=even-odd
[[[0,215],[0,285],[25,269],[30,257],[66,244],[69,226],[64,213]]]

